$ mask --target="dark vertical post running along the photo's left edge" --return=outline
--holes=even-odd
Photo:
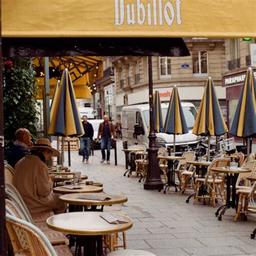
[[[4,106],[2,76],[2,17],[0,1],[0,255],[7,254],[5,227],[5,191],[4,191]]]

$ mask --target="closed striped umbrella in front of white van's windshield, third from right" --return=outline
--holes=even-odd
[[[173,134],[173,152],[176,151],[176,134],[188,133],[187,124],[181,107],[177,86],[172,89],[168,111],[166,114],[164,132]]]

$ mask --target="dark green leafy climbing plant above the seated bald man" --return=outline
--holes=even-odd
[[[5,153],[21,127],[36,137],[38,111],[36,105],[36,72],[31,58],[8,58],[3,62],[3,103]]]

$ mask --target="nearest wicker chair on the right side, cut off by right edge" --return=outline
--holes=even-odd
[[[237,221],[241,213],[242,214],[256,213],[256,207],[253,203],[253,200],[251,200],[253,199],[253,197],[256,196],[255,190],[256,190],[256,181],[254,181],[254,184],[252,187],[244,187],[237,190],[239,199],[238,199],[237,214],[235,214],[234,221]]]

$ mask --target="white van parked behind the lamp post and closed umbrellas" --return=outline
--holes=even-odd
[[[162,103],[161,109],[163,114],[163,122],[165,122],[166,113],[168,110],[169,103]],[[183,108],[184,116],[187,123],[188,133],[176,135],[176,152],[180,152],[180,145],[196,146],[200,137],[192,133],[194,122],[197,117],[196,107],[192,103],[181,103]],[[122,137],[123,143],[125,140],[128,142],[128,146],[134,143],[142,144],[149,147],[149,132],[147,127],[149,125],[149,104],[145,105],[133,105],[125,106],[122,109]],[[134,125],[139,124],[142,126],[142,134],[135,136]],[[173,135],[166,133],[156,133],[157,146],[167,147],[173,145]]]

